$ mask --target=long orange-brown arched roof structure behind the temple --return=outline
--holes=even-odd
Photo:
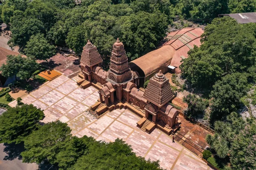
[[[200,38],[204,31],[201,28],[184,28],[170,33],[168,41],[157,50],[129,63],[132,71],[138,71],[140,77],[153,76],[163,67],[175,66],[175,72],[180,73],[181,59],[188,57],[188,51],[194,45],[201,45]]]

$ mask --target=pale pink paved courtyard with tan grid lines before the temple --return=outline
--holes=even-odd
[[[140,117],[129,110],[117,109],[95,119],[85,111],[98,98],[96,88],[81,89],[73,79],[61,75],[24,96],[22,102],[43,109],[44,123],[57,119],[67,122],[73,135],[78,137],[93,136],[96,140],[106,142],[123,139],[131,145],[137,156],[160,160],[160,166],[167,170],[211,169],[198,156],[178,142],[172,142],[171,137],[160,130],[144,133],[136,126]],[[9,105],[14,107],[16,103],[14,101]]]

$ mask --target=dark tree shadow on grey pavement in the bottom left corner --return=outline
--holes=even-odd
[[[19,159],[19,160],[22,159],[22,156],[20,155],[20,153],[25,150],[23,142],[21,142],[19,144],[15,144],[15,143],[7,144],[7,143],[4,143],[3,145],[5,146],[3,151],[7,154],[3,158],[3,160],[12,161],[12,160],[14,160],[16,158]]]

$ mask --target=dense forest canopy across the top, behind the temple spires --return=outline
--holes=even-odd
[[[102,56],[110,55],[119,37],[129,59],[135,59],[159,45],[175,15],[213,19],[218,14],[255,11],[255,6],[255,0],[82,0],[81,6],[73,0],[5,0],[0,20],[11,25],[11,47],[30,48],[25,54],[38,54],[26,46],[38,34],[43,36],[39,46],[67,46],[77,54],[90,39]]]

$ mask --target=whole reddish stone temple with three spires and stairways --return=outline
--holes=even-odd
[[[101,62],[97,48],[88,40],[81,54],[82,79],[77,83],[82,88],[93,85],[99,90],[99,100],[90,108],[97,117],[105,111],[125,108],[141,117],[137,127],[144,132],[159,128],[169,135],[180,127],[179,111],[169,104],[174,98],[169,79],[161,70],[151,77],[145,92],[138,89],[140,75],[131,71],[124,45],[118,38],[113,44],[110,69],[104,71]]]

